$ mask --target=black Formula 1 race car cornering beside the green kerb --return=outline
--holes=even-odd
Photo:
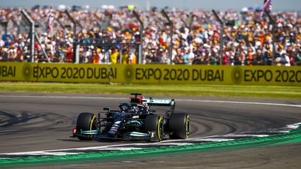
[[[103,108],[105,112],[80,113],[72,136],[79,140],[93,138],[148,140],[160,142],[166,136],[172,139],[185,139],[190,134],[188,113],[175,113],[174,99],[144,99],[140,93],[131,93],[130,102],[119,104],[120,110]],[[169,106],[164,115],[155,114],[151,106]],[[101,117],[105,114],[105,117]]]

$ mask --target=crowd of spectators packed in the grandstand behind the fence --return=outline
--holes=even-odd
[[[81,63],[137,63],[140,25],[127,8],[70,10],[77,22],[76,33],[61,10],[31,8],[28,11],[40,25],[36,26],[41,45],[35,41],[35,61],[72,62],[72,54],[77,52]],[[16,26],[26,25],[20,9],[0,8],[0,13],[0,61],[29,61],[28,31],[18,34],[20,30]],[[54,15],[51,29],[48,29],[49,13]],[[139,11],[139,15],[144,22],[144,64],[220,64],[220,27],[211,12],[171,10],[168,15],[173,30],[160,11]],[[268,17],[261,17],[258,11],[228,10],[217,15],[225,22],[223,65],[301,65],[300,13],[271,13],[276,17],[274,52]],[[75,42],[77,51],[73,51]],[[173,48],[169,51],[171,42]],[[42,49],[49,58],[45,58]]]

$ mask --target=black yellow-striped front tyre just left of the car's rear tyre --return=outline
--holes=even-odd
[[[151,132],[150,141],[160,142],[164,136],[163,133],[164,120],[158,115],[148,115],[144,121],[146,132]]]

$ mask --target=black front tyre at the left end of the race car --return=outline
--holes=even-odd
[[[95,130],[95,115],[93,113],[80,113],[77,117],[77,131]],[[79,140],[92,140],[93,136],[86,134],[86,136],[77,136]]]

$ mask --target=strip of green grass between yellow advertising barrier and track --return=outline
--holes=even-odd
[[[192,95],[217,97],[273,97],[301,99],[301,86],[226,86],[180,84],[100,83],[0,83],[0,92],[93,93],[147,95]]]

